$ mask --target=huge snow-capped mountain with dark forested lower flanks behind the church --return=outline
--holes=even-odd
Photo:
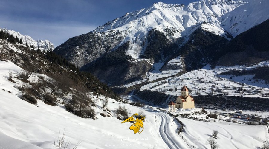
[[[188,63],[187,69],[197,69],[220,54],[220,47],[232,38],[266,21],[266,6],[267,0],[201,0],[186,6],[158,2],[70,38],[54,52],[106,83],[114,80],[109,78],[113,72],[121,72],[114,74],[123,80],[117,83],[143,78],[155,64],[177,56]],[[207,50],[208,45],[214,46]]]

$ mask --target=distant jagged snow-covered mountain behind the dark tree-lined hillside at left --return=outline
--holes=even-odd
[[[39,47],[39,49],[41,50],[50,50],[50,49],[54,49],[53,44],[48,41],[48,40],[34,40],[32,37],[28,36],[28,35],[22,35],[19,32],[16,32],[14,30],[8,30],[6,28],[0,28],[1,31],[7,32],[10,35],[13,35],[14,37],[18,37],[19,39],[22,39],[22,42],[24,44],[28,44],[28,46],[33,45],[35,47],[35,49],[37,49]]]

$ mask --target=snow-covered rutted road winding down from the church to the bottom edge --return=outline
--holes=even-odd
[[[168,147],[170,149],[189,149],[189,146],[175,132],[178,126],[172,121],[172,117],[165,113],[158,113],[156,116],[161,121],[160,135]]]

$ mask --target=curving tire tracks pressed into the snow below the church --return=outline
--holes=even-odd
[[[160,135],[163,138],[163,141],[168,145],[170,149],[178,149],[178,148],[189,148],[187,144],[181,139],[179,136],[177,136],[174,132],[169,132],[169,122],[168,122],[168,116],[165,114],[158,114],[158,116],[161,118],[161,125],[160,125]],[[169,117],[170,118],[170,117]],[[173,137],[171,137],[173,136]],[[178,139],[175,139],[178,138]]]

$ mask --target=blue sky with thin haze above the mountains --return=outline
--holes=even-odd
[[[187,5],[198,0],[1,0],[0,27],[35,40],[48,39],[56,47],[71,37],[159,1]]]

